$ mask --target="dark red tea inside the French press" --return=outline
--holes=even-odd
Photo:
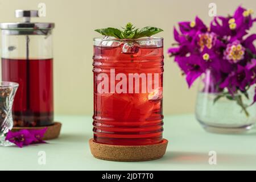
[[[19,83],[13,104],[14,126],[53,123],[52,59],[3,59],[2,80]]]

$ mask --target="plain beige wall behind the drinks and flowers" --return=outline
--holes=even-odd
[[[172,28],[181,20],[199,15],[210,22],[208,5],[217,4],[217,14],[232,14],[238,5],[256,11],[255,0],[1,0],[0,22],[16,22],[15,9],[38,9],[46,3],[46,17],[55,22],[54,81],[56,114],[89,114],[93,110],[92,39],[95,28],[121,27],[132,22],[137,27],[163,28],[164,51],[174,42]],[[256,14],[254,14],[256,16]],[[35,19],[34,19],[35,20]],[[256,25],[253,32],[256,32]],[[164,114],[192,113],[197,84],[188,90],[173,59],[165,56]]]

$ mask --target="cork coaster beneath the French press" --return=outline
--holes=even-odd
[[[36,129],[44,129],[47,127],[47,131],[44,134],[43,140],[51,140],[58,138],[60,135],[60,129],[61,129],[61,123],[60,122],[54,122],[53,125],[50,126],[39,126],[39,127],[13,127],[12,131],[19,131],[22,129],[26,130],[36,130]]]

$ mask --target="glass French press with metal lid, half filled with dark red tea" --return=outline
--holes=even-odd
[[[16,10],[20,23],[1,23],[2,80],[19,83],[14,126],[53,123],[53,23],[32,23],[36,10]]]

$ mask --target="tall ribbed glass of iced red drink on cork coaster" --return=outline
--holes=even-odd
[[[163,38],[95,38],[94,142],[162,142]]]

